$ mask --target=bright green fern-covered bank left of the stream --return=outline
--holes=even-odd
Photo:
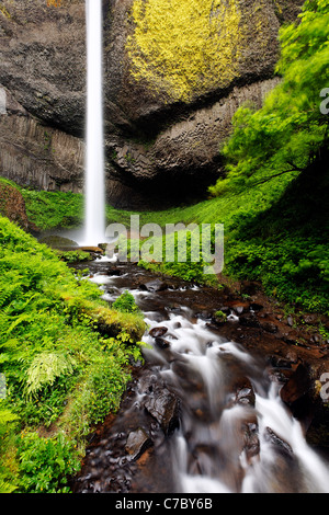
[[[18,446],[18,430],[63,427],[83,446],[91,425],[118,408],[144,321],[111,310],[97,285],[7,218],[0,242],[0,488],[60,491],[58,481],[73,470],[66,458],[76,462],[78,450],[30,431]],[[109,335],[100,335],[100,323]]]

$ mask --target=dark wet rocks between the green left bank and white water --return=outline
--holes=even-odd
[[[137,474],[138,482],[143,477],[147,484],[148,461],[157,469],[166,468],[161,447],[166,448],[167,438],[179,426],[180,400],[166,388],[157,370],[146,368],[139,374],[129,385],[120,413],[94,435],[75,480],[75,493],[128,493],[134,488],[140,491],[134,479]],[[158,451],[156,457],[154,448]],[[157,464],[159,457],[161,462]],[[168,485],[168,492],[171,488]]]

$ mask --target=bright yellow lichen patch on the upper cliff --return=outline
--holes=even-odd
[[[131,73],[172,100],[226,87],[238,75],[236,0],[135,0]]]

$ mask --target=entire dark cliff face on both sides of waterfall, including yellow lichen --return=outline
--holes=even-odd
[[[275,84],[279,27],[302,3],[103,0],[114,206],[164,207],[205,194],[220,173],[218,149],[235,111],[246,101],[260,106]],[[3,0],[0,34],[0,174],[82,191],[84,0],[60,8]]]

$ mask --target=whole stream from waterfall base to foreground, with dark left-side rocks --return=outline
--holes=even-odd
[[[118,413],[90,436],[73,492],[329,492],[326,458],[280,397],[288,366],[273,371],[230,340],[232,309],[226,330],[212,323],[219,294],[106,258],[89,268],[107,301],[134,295],[147,346]]]

